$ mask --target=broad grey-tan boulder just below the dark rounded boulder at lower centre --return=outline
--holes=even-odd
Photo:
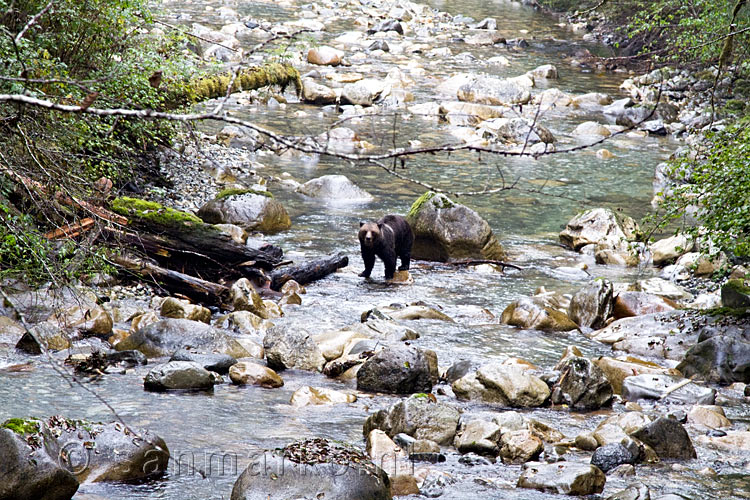
[[[389,436],[404,433],[417,439],[429,439],[450,445],[456,436],[460,414],[445,403],[434,403],[426,397],[412,396],[367,417],[364,435],[380,429]]]

